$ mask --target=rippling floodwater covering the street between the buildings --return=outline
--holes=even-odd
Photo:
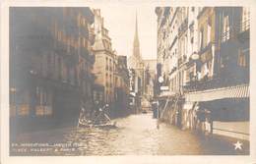
[[[115,121],[117,129],[70,128],[20,135],[11,144],[11,155],[239,155],[249,152],[246,142],[243,149],[234,150],[233,143],[237,140],[199,137],[164,123],[158,129],[152,113]]]

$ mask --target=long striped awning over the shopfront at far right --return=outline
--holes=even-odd
[[[249,97],[249,84],[194,91],[185,94],[186,101],[212,101],[224,98],[246,98]]]

